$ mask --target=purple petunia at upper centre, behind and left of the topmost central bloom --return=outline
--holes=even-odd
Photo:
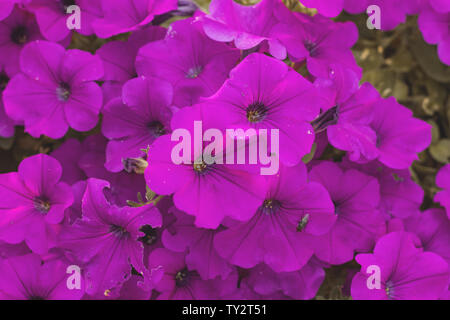
[[[166,38],[139,51],[139,75],[167,80],[174,87],[174,104],[192,105],[212,95],[239,60],[239,51],[209,39],[194,18],[172,23]]]

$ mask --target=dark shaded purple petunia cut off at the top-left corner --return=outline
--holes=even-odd
[[[34,16],[21,9],[0,22],[0,67],[9,75],[20,72],[19,57],[22,48],[29,42],[43,39]]]

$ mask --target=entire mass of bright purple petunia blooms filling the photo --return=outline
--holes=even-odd
[[[365,1],[301,2],[320,14],[281,0],[212,0],[209,14],[176,0],[2,2],[0,136],[99,133],[0,174],[0,298],[312,299],[324,268],[355,255],[353,299],[448,298],[450,167],[436,181],[445,209],[424,212],[408,170],[431,127],[360,85],[357,28],[329,17]],[[448,2],[429,2],[370,4],[384,29],[420,12],[447,63]],[[82,35],[131,34],[68,49],[69,5]],[[196,123],[226,138],[174,162],[172,133],[195,137]],[[276,174],[239,157],[251,134],[230,152],[228,129],[278,130],[279,145],[259,150],[279,159]],[[212,140],[214,161],[198,162]],[[328,145],[344,158],[321,159]]]

